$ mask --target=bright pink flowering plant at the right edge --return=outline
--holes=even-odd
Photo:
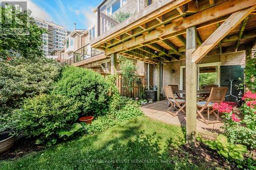
[[[242,98],[245,103],[240,107],[242,118],[239,118],[228,103],[215,103],[213,108],[224,113],[224,134],[230,142],[247,145],[256,148],[255,122],[256,122],[256,93],[247,91]],[[239,110],[239,109],[236,109]]]

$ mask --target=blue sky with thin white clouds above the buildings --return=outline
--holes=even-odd
[[[67,30],[87,29],[96,25],[92,11],[102,0],[27,0],[33,17],[53,21]]]

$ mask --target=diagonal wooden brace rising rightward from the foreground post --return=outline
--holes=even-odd
[[[218,44],[233,28],[244,20],[256,6],[244,9],[231,14],[225,22],[212,33],[197,50],[192,54],[192,61],[198,62],[202,59],[216,44]]]

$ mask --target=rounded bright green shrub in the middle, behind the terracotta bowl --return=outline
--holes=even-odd
[[[53,93],[79,101],[81,114],[100,115],[108,106],[108,85],[103,76],[91,69],[64,68]]]

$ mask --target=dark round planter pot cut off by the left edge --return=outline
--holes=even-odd
[[[0,155],[7,153],[12,148],[15,141],[15,137],[12,133],[14,134],[15,132],[6,131],[0,133]]]

